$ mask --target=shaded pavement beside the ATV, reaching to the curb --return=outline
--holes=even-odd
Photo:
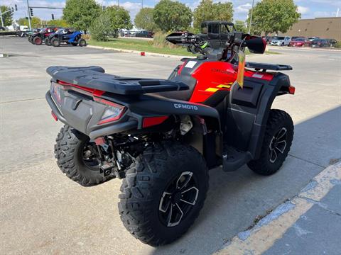
[[[177,242],[151,254],[212,254],[253,224],[258,215],[296,195],[330,160],[341,158],[341,106],[295,125],[291,155],[274,176],[247,166],[210,171],[210,190],[195,225]]]

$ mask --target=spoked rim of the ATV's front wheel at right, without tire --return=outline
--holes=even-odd
[[[274,137],[272,137],[269,145],[269,162],[275,163],[278,156],[283,154],[286,150],[286,138],[288,130],[286,128],[281,128],[276,132]]]

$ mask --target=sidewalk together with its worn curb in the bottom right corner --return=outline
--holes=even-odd
[[[298,196],[240,232],[216,255],[341,254],[341,163],[328,166]]]

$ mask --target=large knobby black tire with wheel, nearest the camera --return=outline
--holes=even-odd
[[[202,155],[189,145],[151,145],[126,171],[119,213],[124,227],[151,246],[184,234],[199,215],[208,189]]]

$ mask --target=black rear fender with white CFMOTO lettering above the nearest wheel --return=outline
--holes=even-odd
[[[193,128],[183,135],[183,142],[195,147],[205,157],[207,166],[210,168],[217,166],[219,155],[222,154],[222,136],[220,115],[215,108],[156,96],[146,97],[148,100],[129,105],[131,113],[136,113],[136,118],[139,119],[138,128],[143,129],[144,118],[151,116],[188,115],[193,122]],[[163,124],[171,128],[167,120]],[[164,125],[160,125],[160,129]]]

